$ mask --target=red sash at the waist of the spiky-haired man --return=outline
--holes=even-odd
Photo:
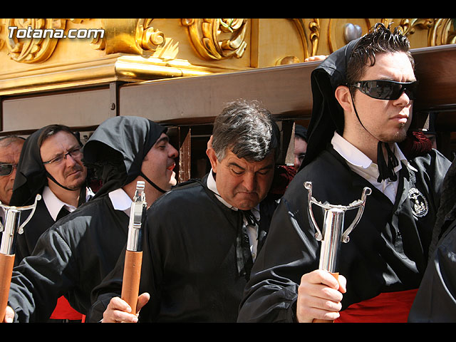
[[[352,304],[336,323],[406,323],[418,289],[387,292]]]

